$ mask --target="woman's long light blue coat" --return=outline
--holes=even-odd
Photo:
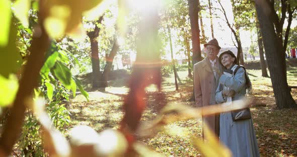
[[[221,93],[224,86],[235,91],[233,101],[245,97],[245,83],[244,68],[239,68],[232,77],[222,74],[215,92],[216,102],[227,101],[227,97]],[[260,156],[252,119],[233,121],[231,113],[226,112],[220,113],[219,121],[219,139],[232,151],[233,156]]]

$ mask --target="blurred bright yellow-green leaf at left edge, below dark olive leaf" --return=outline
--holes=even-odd
[[[10,74],[9,78],[0,75],[0,106],[4,107],[13,103],[19,89],[18,78]]]

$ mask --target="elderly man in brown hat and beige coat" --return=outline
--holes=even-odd
[[[215,90],[218,86],[222,67],[218,62],[219,45],[216,39],[204,44],[206,57],[194,65],[194,90],[197,107],[214,105]],[[213,133],[219,137],[219,113],[202,117],[203,124],[207,124]],[[204,130],[202,128],[204,138]]]

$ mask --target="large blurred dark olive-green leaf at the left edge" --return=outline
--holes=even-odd
[[[1,27],[3,25],[6,25],[6,24],[2,23],[2,25],[0,25],[0,31],[2,31]],[[0,67],[2,67],[0,68],[0,74],[5,76],[6,78],[8,78],[10,73],[16,73],[22,64],[21,54],[20,52],[18,52],[17,45],[16,45],[16,39],[17,39],[16,26],[13,23],[10,23],[8,25],[10,26],[9,41],[6,44],[6,46],[0,46]],[[3,34],[1,34],[0,36],[3,36]]]

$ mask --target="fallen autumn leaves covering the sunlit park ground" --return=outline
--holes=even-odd
[[[297,60],[293,60],[293,63],[287,66],[289,86],[297,86],[297,64],[294,62]],[[276,109],[270,78],[261,77],[260,69],[248,69],[248,73],[253,84],[253,95],[249,97],[254,99],[251,111],[261,156],[297,156],[297,110]],[[158,92],[153,85],[147,87],[147,108],[141,119],[143,122],[150,122],[156,118],[158,111],[166,104],[194,105],[193,102],[188,101],[192,94],[192,81],[187,74],[186,69],[178,71],[181,78],[179,91],[175,91],[172,75],[164,77],[162,92]],[[67,106],[71,113],[71,123],[68,128],[81,124],[89,125],[98,132],[107,128],[117,129],[123,116],[123,98],[128,92],[126,81],[127,79],[123,78],[111,81],[110,87],[104,92],[90,89],[89,102],[82,95],[72,99]],[[294,100],[297,100],[297,89],[292,89],[291,94]],[[165,100],[159,99],[162,95],[165,95]],[[166,128],[171,130],[181,127],[195,136],[201,136],[201,119],[178,121],[166,125]],[[165,156],[200,155],[190,139],[185,136],[172,136],[159,132],[154,136],[139,137],[138,140]]]

